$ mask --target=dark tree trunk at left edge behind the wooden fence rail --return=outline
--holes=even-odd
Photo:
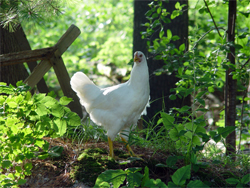
[[[20,51],[18,45],[17,32],[9,32],[0,26],[0,54],[7,54]],[[23,64],[1,66],[0,82],[15,85],[17,81],[24,80],[28,77],[28,72]]]

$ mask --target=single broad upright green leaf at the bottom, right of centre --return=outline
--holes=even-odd
[[[191,176],[191,165],[179,168],[172,176],[172,180],[176,185],[184,185]]]

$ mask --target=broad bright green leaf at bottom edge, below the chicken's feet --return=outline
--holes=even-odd
[[[118,170],[106,170],[101,173],[95,182],[95,187],[101,187],[102,182],[112,183],[114,188],[118,188],[121,184],[123,184],[126,179],[126,172],[121,169]]]

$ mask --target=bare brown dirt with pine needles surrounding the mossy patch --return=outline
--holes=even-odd
[[[50,143],[50,147],[62,146],[64,148],[61,157],[47,158],[44,160],[34,159],[32,160],[33,169],[32,175],[26,177],[27,182],[21,187],[90,187],[93,183],[81,182],[72,177],[71,172],[74,167],[78,165],[78,156],[88,148],[102,148],[106,153],[103,155],[108,156],[108,143],[107,142],[88,142],[83,145],[72,144],[72,142],[62,139],[45,138]],[[118,151],[127,153],[126,147],[123,143],[114,142],[115,155]],[[152,166],[151,176],[152,178],[168,179],[171,173],[165,171],[163,168],[156,169],[154,167],[157,163],[165,163],[168,154],[162,152],[156,152],[140,148],[137,146],[131,146],[136,155],[139,155],[143,160],[128,163],[126,165],[118,165],[115,168],[128,168],[128,167],[145,167],[147,165]],[[122,161],[125,159],[118,159]],[[154,169],[155,168],[155,169]],[[90,169],[91,170],[91,169]],[[100,174],[101,172],[99,172]]]

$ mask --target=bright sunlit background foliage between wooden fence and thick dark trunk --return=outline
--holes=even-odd
[[[71,24],[80,30],[80,36],[63,54],[69,75],[77,71],[86,74],[113,76],[113,67],[131,69],[127,64],[132,58],[133,1],[94,0],[69,3],[57,20],[36,26],[23,24],[32,49],[51,47],[57,43]],[[38,37],[37,37],[38,36]],[[98,64],[112,68],[103,72]],[[53,70],[45,75],[47,85],[57,92]],[[57,93],[58,94],[58,93]],[[59,96],[62,96],[61,92]]]

